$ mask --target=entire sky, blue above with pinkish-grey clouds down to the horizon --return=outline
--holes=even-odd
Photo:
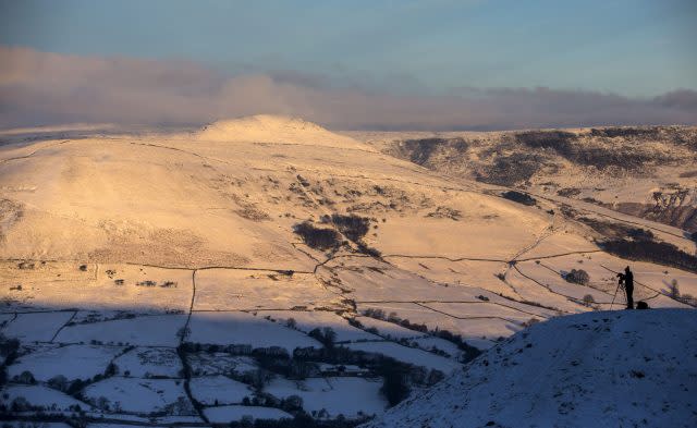
[[[696,19],[693,0],[0,0],[0,126],[696,123]]]

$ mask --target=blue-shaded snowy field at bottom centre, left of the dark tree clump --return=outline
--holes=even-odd
[[[330,417],[340,414],[356,417],[359,413],[371,415],[384,412],[387,402],[380,393],[381,387],[381,379],[341,377],[292,381],[276,378],[265,388],[265,392],[278,399],[298,395],[307,413],[325,409]]]

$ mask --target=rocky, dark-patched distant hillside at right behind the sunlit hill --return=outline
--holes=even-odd
[[[393,140],[387,151],[450,176],[543,187],[541,192],[697,231],[697,186],[690,182],[697,176],[695,127],[449,133]],[[658,191],[632,191],[647,187]],[[606,189],[610,192],[597,194]]]

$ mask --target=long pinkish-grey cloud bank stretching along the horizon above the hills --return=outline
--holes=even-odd
[[[288,72],[225,76],[196,63],[96,58],[0,46],[0,126],[203,124],[257,113],[332,129],[505,130],[697,124],[697,91],[653,98],[548,88],[390,95]]]

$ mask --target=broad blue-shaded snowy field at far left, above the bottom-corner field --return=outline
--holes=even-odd
[[[62,375],[68,380],[103,374],[122,348],[117,346],[68,345],[21,356],[10,367],[10,378],[28,370],[39,381]]]

